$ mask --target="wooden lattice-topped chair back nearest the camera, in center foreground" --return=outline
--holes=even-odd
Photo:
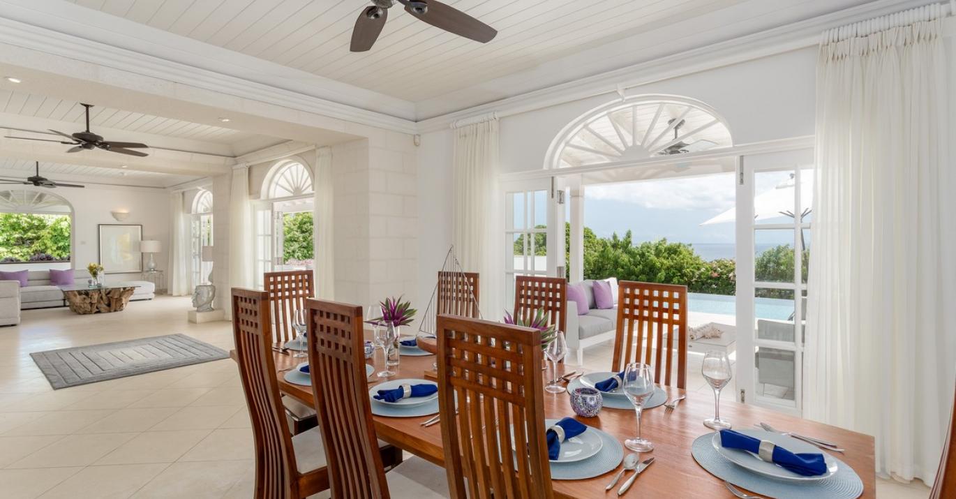
[[[541,365],[541,332],[457,315],[437,325],[451,497],[554,497],[541,371],[532,367]],[[447,417],[456,400],[459,416]]]

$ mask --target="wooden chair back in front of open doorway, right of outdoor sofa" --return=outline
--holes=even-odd
[[[654,380],[671,385],[677,337],[677,387],[687,383],[687,287],[620,281],[618,330],[611,370],[629,362],[654,366]],[[663,371],[663,379],[662,379]]]

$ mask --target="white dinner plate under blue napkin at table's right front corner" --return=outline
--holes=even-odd
[[[755,439],[768,440],[772,442],[773,445],[779,445],[793,452],[794,454],[823,454],[823,462],[827,465],[827,472],[823,473],[822,475],[804,476],[799,473],[794,473],[793,471],[784,467],[774,465],[773,463],[768,463],[757,457],[757,455],[752,452],[737,448],[727,448],[720,444],[720,432],[715,432],[712,443],[717,452],[728,461],[738,466],[746,467],[754,473],[759,473],[761,475],[766,475],[779,480],[791,480],[799,482],[823,480],[824,478],[830,478],[834,475],[834,473],[836,473],[836,459],[834,459],[830,454],[823,452],[815,445],[810,445],[806,442],[802,442],[786,435],[781,435],[771,431],[758,429],[741,429],[735,431]]]

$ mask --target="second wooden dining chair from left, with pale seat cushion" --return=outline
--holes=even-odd
[[[310,298],[309,363],[332,497],[447,497],[442,468],[413,457],[385,473],[372,420],[362,309]],[[397,492],[399,493],[399,492]]]

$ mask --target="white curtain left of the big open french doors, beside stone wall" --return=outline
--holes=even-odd
[[[479,303],[486,318],[504,310],[504,231],[497,203],[498,119],[454,130],[452,242],[464,271],[477,271]]]

